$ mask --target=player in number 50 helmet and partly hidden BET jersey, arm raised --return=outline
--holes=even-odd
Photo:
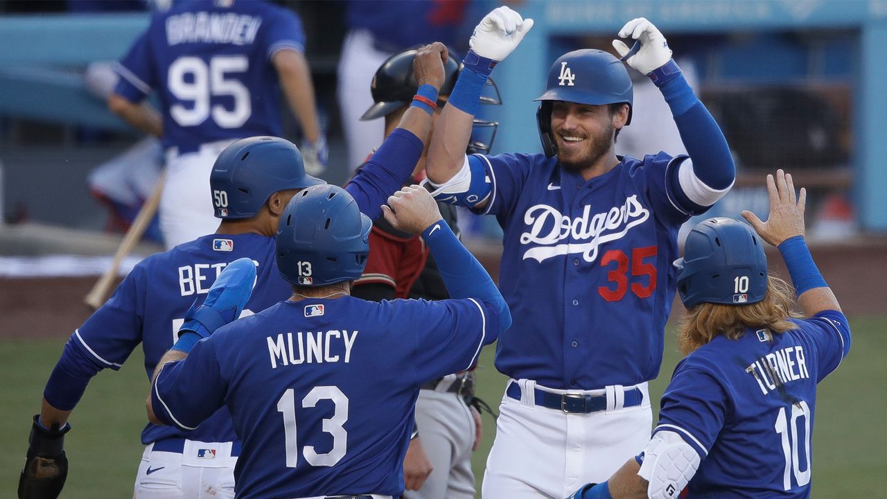
[[[446,49],[432,44],[420,50],[414,73],[420,99],[436,100],[443,83]],[[428,104],[417,101],[356,178],[346,187],[359,210],[378,217],[380,206],[403,186],[424,150],[431,127]],[[114,296],[98,309],[65,345],[43,392],[43,408],[35,416],[21,498],[54,498],[67,476],[64,435],[68,417],[90,378],[99,370],[121,368],[139,343],[145,352],[145,371],[153,373],[169,350],[186,311],[208,292],[224,266],[240,257],[251,258],[258,278],[244,312],[260,311],[290,295],[280,279],[271,236],[287,202],[307,186],[323,184],[305,174],[299,150],[284,139],[241,139],[225,148],[210,178],[216,216],[222,219],[216,234],[181,244],[145,258],[130,272]],[[310,267],[304,269],[310,280]],[[239,455],[231,418],[221,410],[195,432],[148,424],[142,432],[147,446],[138,469],[135,496],[213,497],[232,495],[233,465]]]

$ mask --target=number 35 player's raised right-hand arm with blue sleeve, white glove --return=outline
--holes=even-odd
[[[620,40],[614,40],[613,47],[629,66],[647,75],[663,92],[690,156],[690,161],[671,172],[669,182],[675,201],[691,215],[702,213],[730,190],[736,178],[724,134],[671,59],[663,34],[650,21],[630,20],[619,36],[637,40],[637,51]]]

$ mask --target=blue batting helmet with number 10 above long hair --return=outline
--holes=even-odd
[[[750,226],[732,218],[696,224],[684,243],[684,257],[674,266],[687,308],[701,303],[748,305],[766,294],[764,242]]]

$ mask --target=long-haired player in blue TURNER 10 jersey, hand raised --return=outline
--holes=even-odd
[[[665,389],[643,452],[576,499],[810,497],[816,384],[850,352],[850,326],[804,241],[805,189],[767,176],[770,216],[751,229],[710,218],[687,236],[678,289],[687,357]],[[797,289],[767,275],[777,246]]]

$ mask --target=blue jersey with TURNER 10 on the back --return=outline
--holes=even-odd
[[[850,351],[843,313],[798,329],[718,336],[681,360],[654,432],[678,433],[702,459],[687,497],[809,497],[816,384]]]

